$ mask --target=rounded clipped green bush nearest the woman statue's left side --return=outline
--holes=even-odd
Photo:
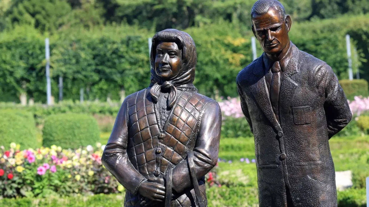
[[[99,127],[91,115],[65,113],[45,119],[42,145],[77,148],[99,141]]]

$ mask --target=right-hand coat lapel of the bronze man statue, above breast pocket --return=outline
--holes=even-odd
[[[282,85],[279,90],[279,117],[283,119],[283,114],[289,112],[289,108],[294,97],[296,88],[299,86],[290,76],[299,72],[298,71],[298,60],[299,60],[299,49],[292,45],[292,56],[290,62],[287,65],[286,71],[283,73]]]

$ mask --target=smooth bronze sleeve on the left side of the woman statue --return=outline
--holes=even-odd
[[[134,168],[127,156],[127,108],[127,101],[125,100],[118,111],[101,162],[125,189],[132,194],[136,194],[139,184],[146,179]]]

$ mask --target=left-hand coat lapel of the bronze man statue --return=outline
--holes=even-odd
[[[263,54],[264,55],[264,54]],[[259,57],[254,67],[254,75],[256,76],[256,83],[251,85],[252,94],[258,102],[261,110],[268,118],[273,127],[279,131],[281,129],[276,116],[273,112],[272,104],[270,103],[269,92],[266,88],[265,70],[263,68],[263,55]]]

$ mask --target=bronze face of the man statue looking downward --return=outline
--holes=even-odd
[[[260,42],[261,48],[268,54],[278,54],[289,43],[288,32],[291,18],[286,15],[286,21],[280,17],[279,11],[271,6],[265,14],[252,15],[253,32]]]

